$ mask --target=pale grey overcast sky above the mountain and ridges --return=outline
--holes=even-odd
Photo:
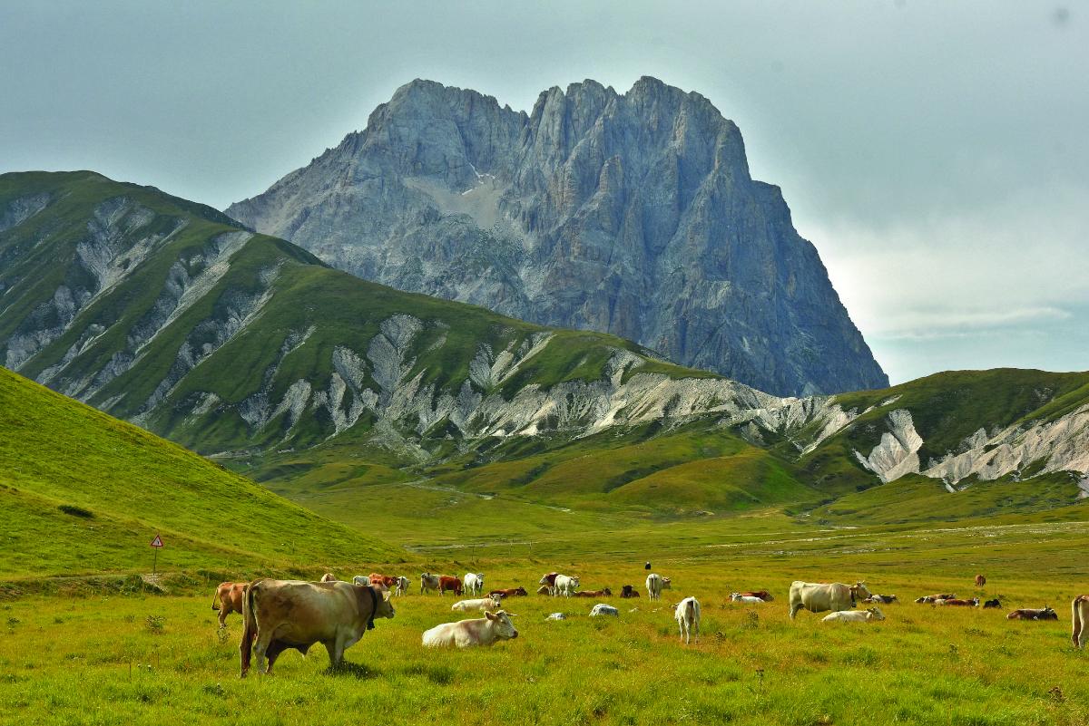
[[[783,188],[894,383],[1089,370],[1089,2],[0,2],[0,172],[223,208],[415,78],[653,75]],[[305,8],[304,8],[305,5]]]

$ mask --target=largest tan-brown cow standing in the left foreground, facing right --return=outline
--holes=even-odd
[[[393,617],[393,605],[374,588],[352,583],[304,583],[259,579],[250,583],[243,600],[244,628],[238,646],[242,676],[250,656],[258,673],[271,673],[277,658],[294,648],[306,654],[320,642],[338,668],[344,649],[375,627],[375,618]],[[265,659],[268,667],[265,667]]]

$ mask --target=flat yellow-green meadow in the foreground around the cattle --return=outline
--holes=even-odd
[[[519,638],[490,650],[427,651],[424,629],[450,619],[451,598],[409,594],[397,614],[329,673],[319,646],[285,654],[270,677],[237,678],[238,616],[217,633],[212,581],[176,596],[22,598],[0,605],[0,713],[10,723],[423,724],[1084,724],[1087,654],[1068,642],[1066,603],[1085,588],[1085,524],[911,533],[841,530],[791,539],[739,537],[718,546],[637,541],[675,589],[652,603],[612,602],[619,618],[586,616],[592,600],[511,601]],[[868,547],[867,547],[868,544]],[[445,555],[449,558],[449,554]],[[555,559],[429,560],[389,572],[482,569],[488,586],[535,584],[558,567],[584,586],[640,585],[641,559],[605,552]],[[1057,623],[1002,612],[916,605],[951,589],[1008,606],[1053,604]],[[347,576],[350,572],[339,573]],[[1080,581],[1076,581],[1078,575]],[[852,580],[904,604],[873,625],[786,614],[794,578]],[[775,601],[727,602],[737,588]],[[669,604],[702,604],[699,644],[678,642]],[[636,612],[629,612],[636,608]],[[544,616],[562,611],[565,622]],[[146,666],[150,667],[146,667]]]

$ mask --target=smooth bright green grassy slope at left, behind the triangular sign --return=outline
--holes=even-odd
[[[403,554],[0,368],[0,577],[315,567]]]

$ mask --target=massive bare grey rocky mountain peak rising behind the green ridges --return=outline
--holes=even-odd
[[[227,212],[365,279],[612,333],[773,393],[889,383],[737,126],[654,78],[551,88],[529,114],[415,80]]]

